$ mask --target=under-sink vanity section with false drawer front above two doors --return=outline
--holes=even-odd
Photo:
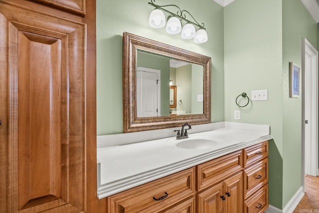
[[[242,159],[240,150],[197,166],[197,213],[242,212]]]

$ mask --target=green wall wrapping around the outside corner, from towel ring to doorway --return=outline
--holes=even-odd
[[[236,0],[224,9],[224,25],[225,120],[271,126],[269,202],[283,209],[302,177],[302,99],[289,98],[289,62],[301,66],[302,37],[318,46],[316,22],[300,0]],[[263,89],[268,101],[236,105],[242,92]]]

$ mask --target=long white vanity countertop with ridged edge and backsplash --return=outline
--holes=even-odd
[[[218,129],[212,128],[214,130],[189,134],[189,139],[208,137],[218,142],[216,147],[207,149],[178,148],[175,144],[184,139],[176,140],[175,137],[103,147],[99,143],[105,143],[107,138],[114,140],[114,136],[99,136],[98,198],[108,197],[272,139],[269,126],[266,125],[219,122],[217,126]],[[220,128],[221,126],[224,128]]]

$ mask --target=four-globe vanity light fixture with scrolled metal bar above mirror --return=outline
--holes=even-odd
[[[167,4],[167,5],[157,5],[154,3],[155,0],[151,0],[149,2],[150,5],[154,6],[155,9],[151,12],[149,18],[150,26],[154,28],[161,28],[165,26],[166,19],[163,13],[167,12],[170,15],[167,18],[166,24],[166,32],[169,34],[177,34],[181,31],[181,37],[184,39],[191,39],[194,38],[195,43],[204,43],[207,41],[208,36],[207,32],[205,31],[204,23],[199,24],[195,18],[185,9],[181,10],[178,6],[174,4]],[[176,13],[173,13],[163,7],[170,6],[170,7],[177,7],[178,10]],[[193,21],[186,19],[185,13],[188,13]],[[186,24],[181,27],[181,21],[185,21]],[[196,32],[195,26],[198,27]]]

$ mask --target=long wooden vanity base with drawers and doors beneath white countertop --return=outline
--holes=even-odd
[[[99,201],[101,213],[262,213],[268,141]]]

